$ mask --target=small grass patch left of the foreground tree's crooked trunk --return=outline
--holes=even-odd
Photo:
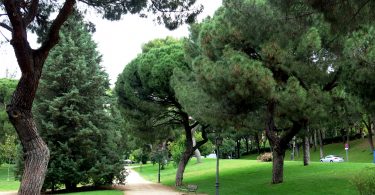
[[[10,166],[10,178],[8,181],[8,166]],[[14,180],[13,165],[2,164],[0,166],[0,191],[17,191],[20,182]]]

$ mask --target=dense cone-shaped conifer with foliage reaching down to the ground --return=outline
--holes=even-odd
[[[108,97],[108,75],[96,44],[78,15],[63,25],[60,36],[46,60],[35,102],[51,155],[44,188],[121,182],[121,118]]]

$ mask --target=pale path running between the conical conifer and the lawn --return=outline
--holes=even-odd
[[[126,185],[120,187],[126,195],[181,195],[173,188],[143,179],[137,172],[129,170]]]

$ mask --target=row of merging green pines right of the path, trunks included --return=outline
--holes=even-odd
[[[364,124],[372,151],[373,6],[223,1],[212,18],[191,25],[188,38],[145,44],[116,83],[119,104],[129,120],[149,125],[143,134],[160,132],[161,125],[162,131],[184,129],[177,186],[181,166],[196,149],[196,125],[203,138],[207,132],[264,130],[274,184],[283,182],[285,152],[297,135],[304,165],[310,135],[319,132],[322,138],[323,130],[339,129],[349,137],[350,129]]]

